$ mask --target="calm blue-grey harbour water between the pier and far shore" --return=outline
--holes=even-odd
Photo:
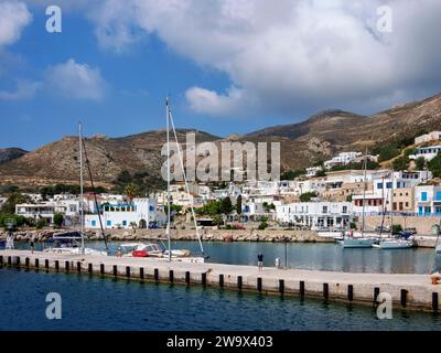
[[[109,243],[111,254],[120,243]],[[21,244],[21,247],[28,247]],[[40,247],[39,247],[40,246]],[[104,249],[100,242],[87,243],[87,246]],[[282,243],[220,243],[205,242],[208,261],[257,265],[257,254],[263,253],[265,266],[275,266],[276,258],[284,265],[284,244]],[[41,248],[41,245],[37,245]],[[200,250],[197,242],[172,242],[173,248]],[[335,270],[347,272],[385,272],[385,274],[429,274],[441,270],[441,256],[433,248],[415,248],[398,250],[344,249],[337,244],[287,244],[287,263],[290,268]]]

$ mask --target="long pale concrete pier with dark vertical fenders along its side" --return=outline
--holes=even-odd
[[[154,258],[43,252],[31,254],[30,250],[1,250],[0,266],[313,297],[370,306],[377,303],[380,292],[387,292],[395,307],[434,312],[439,310],[441,292],[441,285],[432,285],[430,275],[284,270],[271,267],[259,271],[257,266],[168,263]]]

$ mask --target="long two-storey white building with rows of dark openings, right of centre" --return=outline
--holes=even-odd
[[[276,206],[277,220],[311,229],[346,229],[352,221],[351,202],[294,202]]]

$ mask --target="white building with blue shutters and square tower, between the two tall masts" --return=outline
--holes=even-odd
[[[157,210],[153,199],[135,199],[131,204],[104,204],[100,210],[104,228],[147,228],[166,223],[165,214]],[[85,216],[86,228],[99,228],[98,214]]]

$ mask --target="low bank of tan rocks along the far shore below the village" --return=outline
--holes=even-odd
[[[22,229],[14,233],[17,242],[44,242],[53,235],[66,232],[66,229]],[[0,239],[4,239],[6,232],[0,232]],[[101,240],[99,231],[86,231],[87,240]],[[172,229],[173,240],[197,240],[194,229]],[[226,229],[202,229],[201,237],[205,242],[270,242],[270,243],[334,243],[332,238],[320,237],[316,232],[311,231],[226,231]],[[106,229],[108,240],[164,240],[164,229]]]

